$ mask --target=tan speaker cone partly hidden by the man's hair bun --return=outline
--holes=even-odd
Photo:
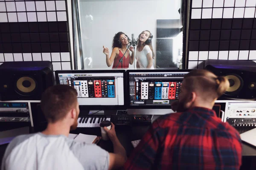
[[[237,74],[230,74],[230,75],[227,75],[225,77],[230,82],[230,87],[227,89],[225,94],[227,94],[227,95],[236,95],[236,94],[238,94],[239,91],[241,91],[241,89],[244,85],[243,79]]]

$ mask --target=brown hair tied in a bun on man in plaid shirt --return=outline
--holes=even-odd
[[[214,100],[227,91],[230,84],[223,77],[217,77],[207,70],[193,70],[184,77],[183,85],[186,90],[198,92],[202,99]]]

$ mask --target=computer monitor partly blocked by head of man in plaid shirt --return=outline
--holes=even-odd
[[[190,70],[128,70],[128,108],[171,108]],[[157,106],[157,107],[156,107]]]

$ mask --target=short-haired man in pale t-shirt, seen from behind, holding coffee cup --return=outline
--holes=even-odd
[[[76,129],[79,104],[76,90],[68,85],[48,88],[41,99],[47,129],[41,133],[17,136],[8,145],[1,170],[110,170],[122,167],[127,157],[116,137],[114,125],[107,130],[114,153],[96,144],[67,138]]]

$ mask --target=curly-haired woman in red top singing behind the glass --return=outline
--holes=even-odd
[[[112,69],[115,69],[119,63],[119,60],[124,55],[127,46],[129,44],[128,37],[123,32],[118,32],[113,37],[112,43],[112,53],[109,57],[109,50],[103,46],[103,53],[106,54],[106,63],[108,67],[113,64]],[[131,55],[130,55],[131,51]],[[114,63],[113,63],[114,62]],[[118,65],[117,68],[129,68],[129,64],[133,64],[134,62],[134,48],[131,46],[125,53],[125,56],[122,59],[122,63]]]

